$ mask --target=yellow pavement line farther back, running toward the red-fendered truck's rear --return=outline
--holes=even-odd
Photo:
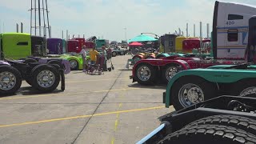
[[[74,94],[90,94],[90,93],[103,93],[103,92],[114,92],[114,91],[122,91],[122,90],[138,90],[139,88],[127,88],[127,89],[116,89],[116,90],[97,90],[97,91],[85,91],[78,93],[59,93],[59,94],[38,94],[38,95],[30,95],[30,96],[16,96],[16,97],[7,97],[0,98],[0,101],[7,99],[21,99],[21,98],[40,98],[40,97],[54,97],[54,96],[65,96],[65,95],[74,95]]]

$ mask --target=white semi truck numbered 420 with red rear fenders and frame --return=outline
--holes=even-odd
[[[211,54],[213,58],[142,59],[133,67],[130,78],[142,85],[170,78],[181,70],[208,66],[256,62],[254,56],[256,6],[215,2]]]

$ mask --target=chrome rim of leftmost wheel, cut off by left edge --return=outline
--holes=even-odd
[[[0,89],[1,90],[11,90],[16,84],[16,77],[10,72],[0,73]]]

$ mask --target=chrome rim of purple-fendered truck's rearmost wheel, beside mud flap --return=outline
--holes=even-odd
[[[37,77],[38,85],[44,88],[53,86],[55,82],[54,73],[50,70],[42,70]]]

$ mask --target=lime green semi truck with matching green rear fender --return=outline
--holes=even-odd
[[[66,60],[70,67],[66,67],[66,71],[82,70],[81,54],[47,54],[46,39],[38,36],[31,36],[24,33],[5,33],[0,34],[1,39],[1,55],[0,59],[20,60],[33,62],[38,60]],[[90,57],[87,56],[87,60]]]

